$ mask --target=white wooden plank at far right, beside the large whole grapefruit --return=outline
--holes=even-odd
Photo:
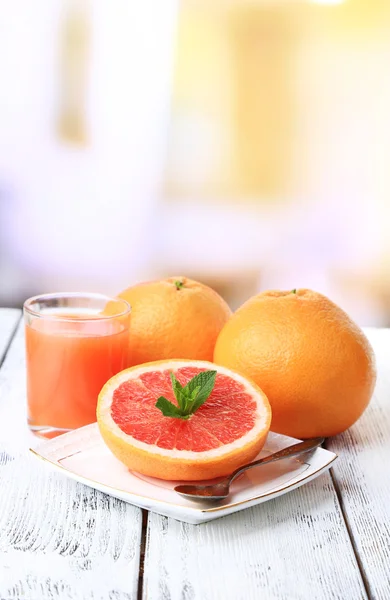
[[[366,333],[378,368],[374,397],[351,429],[328,441],[334,479],[371,596],[390,598],[390,330]]]

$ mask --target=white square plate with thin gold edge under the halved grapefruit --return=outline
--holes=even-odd
[[[297,442],[270,433],[259,456]],[[65,433],[30,448],[63,475],[141,508],[187,523],[204,523],[286,494],[329,469],[337,455],[317,448],[309,455],[284,459],[247,471],[231,486],[231,494],[218,502],[195,502],[177,494],[177,481],[162,481],[130,472],[104,444],[96,423]]]

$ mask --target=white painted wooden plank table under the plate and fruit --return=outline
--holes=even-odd
[[[0,309],[0,599],[390,599],[390,331],[335,467],[203,525],[147,513],[30,459],[21,313]]]

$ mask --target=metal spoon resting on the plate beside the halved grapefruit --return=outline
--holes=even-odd
[[[293,444],[274,454],[270,454],[270,456],[265,456],[264,458],[260,458],[259,460],[255,460],[252,463],[239,467],[233,471],[231,475],[218,481],[218,483],[177,485],[174,490],[184,498],[189,498],[190,500],[223,500],[229,495],[229,486],[232,481],[244,471],[252,469],[253,467],[258,467],[259,465],[266,465],[276,460],[291,458],[292,456],[298,456],[298,454],[310,452],[310,450],[314,450],[318,446],[321,446],[323,442],[324,438],[305,440],[304,442]]]

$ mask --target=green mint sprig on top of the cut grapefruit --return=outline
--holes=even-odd
[[[165,396],[160,396],[156,402],[164,417],[174,419],[189,419],[210,396],[215,384],[217,371],[201,371],[190,379],[187,385],[182,386],[174,373],[170,373],[173,393],[178,406],[170,402]]]

